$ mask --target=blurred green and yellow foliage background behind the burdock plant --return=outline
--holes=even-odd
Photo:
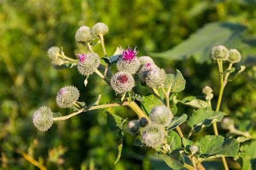
[[[105,36],[108,55],[118,45],[137,46],[139,56],[150,52],[173,49],[186,42],[192,34],[196,38],[179,47],[179,52],[158,53],[156,63],[167,72],[179,69],[187,81],[186,89],[178,97],[200,96],[201,89],[210,85],[214,90],[213,105],[218,96],[218,68],[208,55],[198,55],[212,46],[200,48],[201,40],[224,33],[211,30],[211,23],[228,22],[231,36],[223,45],[236,47],[242,53],[246,71],[228,84],[221,110],[235,119],[240,130],[256,133],[256,2],[190,1],[190,0],[134,0],[134,1],[0,1],[0,165],[2,169],[38,169],[25,156],[39,161],[48,169],[165,169],[163,162],[150,161],[149,149],[132,146],[133,139],[125,133],[120,161],[117,155],[118,134],[106,126],[106,114],[92,111],[53,125],[48,132],[33,127],[32,114],[38,107],[48,105],[63,115],[70,110],[55,104],[57,91],[75,85],[80,100],[90,103],[102,93],[100,103],[111,103],[115,96],[105,82],[93,75],[84,87],[84,77],[76,69],[54,70],[46,51],[51,46],[63,46],[69,57],[82,51],[75,42],[75,32],[82,26],[104,22],[109,26]],[[231,24],[232,25],[232,24]],[[240,27],[239,27],[240,26]],[[197,32],[206,29],[204,35]],[[232,28],[238,28],[232,32]],[[196,32],[196,33],[195,33]],[[198,36],[197,36],[198,35]],[[235,38],[233,38],[235,37]],[[217,42],[222,38],[212,40]],[[194,49],[193,45],[199,48]],[[218,44],[219,45],[219,44]],[[81,50],[82,48],[82,50]],[[95,51],[103,55],[100,45]],[[207,50],[206,50],[207,51]],[[187,52],[187,53],[186,53]],[[155,57],[152,55],[152,57]],[[237,66],[239,66],[238,64]],[[145,94],[137,87],[136,92]],[[178,104],[178,114],[190,113],[191,108]],[[129,120],[136,118],[128,108],[117,108],[116,113]],[[184,131],[187,127],[182,127]],[[206,128],[211,132],[211,127]],[[221,134],[228,136],[225,131]],[[204,135],[206,132],[201,133]],[[194,138],[199,138],[195,136]],[[24,155],[26,153],[27,155]],[[23,154],[23,155],[22,155]],[[26,157],[28,159],[28,157]],[[220,169],[207,164],[207,169]],[[221,163],[220,163],[221,166]],[[166,168],[168,169],[168,168]]]

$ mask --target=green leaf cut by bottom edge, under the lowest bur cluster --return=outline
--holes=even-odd
[[[185,164],[182,152],[180,149],[176,149],[169,154],[159,154],[158,157],[162,158],[170,168],[181,169]]]

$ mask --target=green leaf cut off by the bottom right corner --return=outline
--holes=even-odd
[[[256,140],[242,145],[238,155],[242,158],[242,169],[256,169]]]

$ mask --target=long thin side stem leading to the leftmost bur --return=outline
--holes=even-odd
[[[69,119],[69,118],[71,118],[71,117],[73,117],[73,116],[75,116],[79,113],[86,112],[86,111],[92,111],[92,110],[97,110],[97,109],[100,109],[100,108],[107,108],[107,107],[127,106],[127,105],[130,105],[130,103],[128,101],[125,101],[124,103],[112,103],[112,104],[92,106],[88,110],[85,110],[86,108],[81,108],[79,111],[71,113],[69,115],[53,118],[53,121],[67,120],[67,119]]]

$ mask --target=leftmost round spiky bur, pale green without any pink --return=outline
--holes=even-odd
[[[53,123],[51,108],[48,106],[39,107],[33,114],[34,126],[42,132],[48,131]]]

